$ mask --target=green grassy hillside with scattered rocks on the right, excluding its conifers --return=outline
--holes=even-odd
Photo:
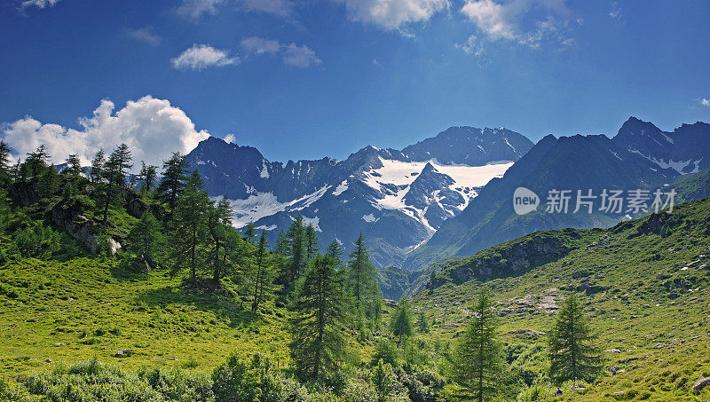
[[[608,362],[601,382],[565,390],[562,399],[709,400],[710,389],[690,390],[710,376],[708,266],[706,198],[608,230],[531,233],[455,260],[422,287],[414,306],[435,319],[432,336],[454,339],[477,289],[492,288],[509,362],[535,378],[547,367],[542,333],[574,292]]]

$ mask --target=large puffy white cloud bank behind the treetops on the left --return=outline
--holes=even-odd
[[[81,129],[67,129],[59,124],[38,122],[30,116],[4,123],[2,133],[16,156],[24,158],[37,146],[45,144],[53,162],[63,162],[68,154],[77,154],[84,165],[99,149],[110,153],[125,143],[133,153],[134,166],[139,161],[160,166],[172,152],[189,153],[209,137],[206,130],[197,131],[181,109],[164,99],[150,95],[114,113],[114,103],[102,100],[93,116],[79,119]]]

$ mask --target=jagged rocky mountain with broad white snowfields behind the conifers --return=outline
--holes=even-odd
[[[301,215],[321,247],[334,239],[350,247],[363,233],[375,264],[387,266],[401,263],[532,146],[503,128],[452,127],[402,151],[367,146],[344,161],[270,162],[254,147],[218,138],[202,141],[186,161],[211,196],[232,202],[235,227],[254,222],[273,241]]]

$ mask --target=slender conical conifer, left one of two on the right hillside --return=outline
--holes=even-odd
[[[454,350],[454,371],[457,382],[483,401],[495,394],[504,369],[493,302],[486,289],[478,295],[473,314]]]

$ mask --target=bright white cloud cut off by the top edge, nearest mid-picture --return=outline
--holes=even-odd
[[[448,0],[343,0],[351,20],[393,30],[406,24],[423,22],[446,10]]]

